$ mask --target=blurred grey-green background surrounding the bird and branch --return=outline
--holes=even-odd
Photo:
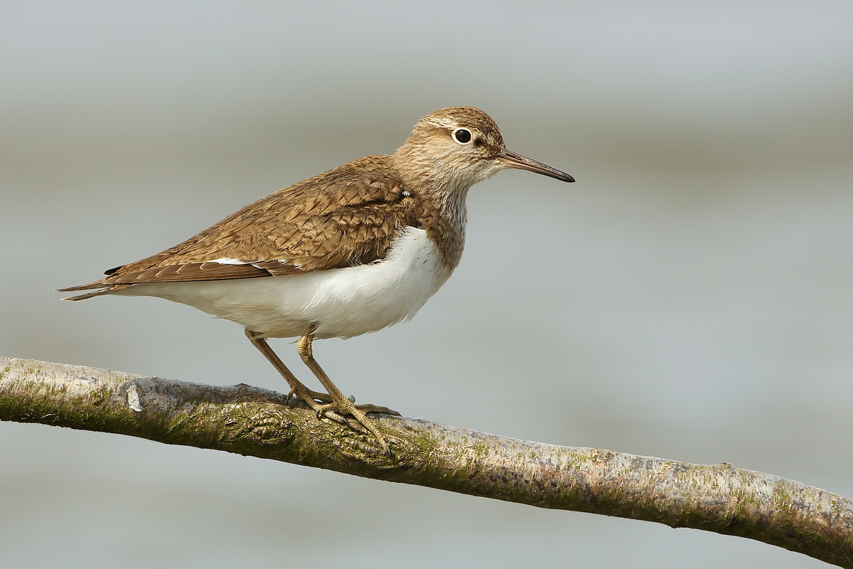
[[[316,344],[342,390],[853,496],[851,29],[842,1],[0,4],[0,355],[283,390],[234,323],[52,290],[473,105],[577,183],[475,186],[414,321]],[[0,456],[4,567],[821,566],[115,435],[2,423]]]

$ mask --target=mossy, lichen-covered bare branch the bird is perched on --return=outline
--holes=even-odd
[[[853,568],[853,501],[722,463],[534,443],[380,415],[394,452],[280,393],[0,357],[0,420],[119,433],[366,478],[749,537]]]

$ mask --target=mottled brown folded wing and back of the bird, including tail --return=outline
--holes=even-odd
[[[258,200],[212,227],[107,277],[65,291],[142,282],[291,275],[384,258],[415,223],[388,156],[368,156]],[[105,291],[106,292],[106,291]]]

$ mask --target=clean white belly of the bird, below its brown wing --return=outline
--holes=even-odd
[[[301,336],[311,322],[319,323],[317,338],[350,338],[409,320],[452,271],[424,229],[407,227],[378,263],[292,276],[151,282],[113,294],[180,302],[268,338]]]

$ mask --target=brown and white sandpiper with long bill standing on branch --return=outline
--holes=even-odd
[[[427,114],[394,154],[353,160],[243,207],[148,258],[60,292],[149,296],[241,324],[296,397],[341,424],[356,421],[392,451],[368,414],[399,415],[346,398],[316,362],[316,339],[351,338],[408,321],[459,264],[466,198],[511,168],[574,182],[566,172],[506,148],[475,107]],[[298,338],[299,357],[326,392],[310,390],[270,348]],[[369,436],[369,435],[368,435]]]

